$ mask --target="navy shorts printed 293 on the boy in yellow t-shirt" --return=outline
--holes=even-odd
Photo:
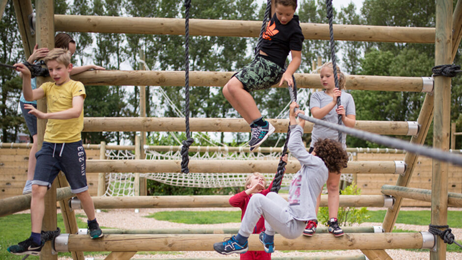
[[[43,142],[42,148],[35,153],[35,157],[37,164],[32,184],[50,188],[59,171],[62,171],[73,193],[88,190],[87,154],[82,141],[62,144]]]

